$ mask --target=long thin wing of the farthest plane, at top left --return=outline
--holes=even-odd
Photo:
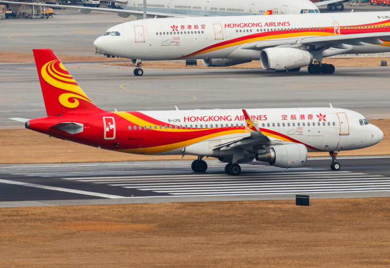
[[[119,2],[116,0],[115,2]],[[54,4],[42,4],[42,3],[25,3],[25,2],[15,2],[15,1],[1,1],[0,3],[10,3],[10,4],[20,4],[20,5],[36,5],[36,6],[47,6],[47,7],[63,7],[78,9],[80,13],[90,13],[91,11],[100,11],[108,13],[116,13],[119,17],[127,18],[130,15],[142,16],[142,10],[126,10],[126,9],[114,9],[114,8],[100,8],[100,7],[88,7],[88,6],[77,6],[77,5],[54,5]],[[179,14],[168,14],[168,13],[159,13],[159,12],[149,12],[146,9],[146,16],[148,18],[167,18],[167,17],[190,17],[183,16]]]

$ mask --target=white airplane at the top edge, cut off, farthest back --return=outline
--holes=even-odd
[[[76,5],[64,5],[65,8],[78,9],[81,13],[102,11],[116,13],[119,17],[127,18],[134,15],[137,18],[166,18],[177,16],[233,16],[233,15],[273,15],[319,13],[318,6],[332,6],[332,10],[342,10],[344,0],[327,0],[312,3],[310,0],[114,0],[122,9],[96,8]],[[0,1],[3,3],[20,4],[16,1]],[[340,2],[340,3],[339,3]],[[146,3],[146,4],[145,4]],[[55,4],[22,3],[59,7]],[[143,6],[146,5],[144,14]],[[329,9],[329,8],[328,8]]]

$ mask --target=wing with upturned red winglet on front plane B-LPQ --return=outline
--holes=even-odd
[[[234,149],[236,147],[244,147],[247,145],[271,143],[270,139],[266,135],[262,134],[261,131],[258,129],[257,125],[254,124],[248,112],[244,109],[242,110],[242,112],[245,117],[245,126],[249,130],[250,136],[239,138],[224,144],[217,145],[215,146],[214,150],[219,149],[223,151],[223,150]]]

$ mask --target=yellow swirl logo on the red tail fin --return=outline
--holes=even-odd
[[[69,75],[59,59],[54,59],[44,64],[40,69],[40,74],[43,80],[45,80],[49,85],[71,92],[63,93],[59,96],[59,103],[61,103],[62,106],[71,109],[76,108],[79,105],[78,99],[92,103],[92,101],[78,86],[75,79]],[[70,99],[72,99],[73,102],[70,102]]]

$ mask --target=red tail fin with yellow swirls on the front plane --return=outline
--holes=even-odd
[[[33,49],[46,114],[103,112],[85,95],[50,49]]]

